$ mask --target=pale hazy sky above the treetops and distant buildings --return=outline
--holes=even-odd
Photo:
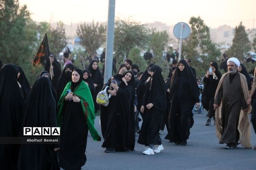
[[[108,19],[108,0],[19,0],[36,21],[63,21],[65,24]],[[160,21],[167,25],[189,22],[200,16],[207,26],[256,28],[256,0],[116,0],[116,17],[141,23]]]

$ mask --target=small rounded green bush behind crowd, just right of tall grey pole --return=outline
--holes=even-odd
[[[129,59],[131,59],[134,64],[137,64],[139,66],[140,71],[145,71],[148,66],[145,59],[140,56],[140,48],[132,48],[129,52]]]

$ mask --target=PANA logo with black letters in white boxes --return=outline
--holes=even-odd
[[[23,136],[60,136],[60,127],[23,127]]]

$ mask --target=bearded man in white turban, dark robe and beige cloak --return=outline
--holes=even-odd
[[[249,96],[246,78],[237,71],[240,62],[237,58],[227,60],[228,72],[223,74],[218,84],[214,109],[216,133],[225,149],[232,149],[240,142],[243,147],[252,147],[250,143],[250,121],[247,105]]]

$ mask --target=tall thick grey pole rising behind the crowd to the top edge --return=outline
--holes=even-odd
[[[115,7],[116,0],[109,0],[104,83],[108,82],[108,79],[112,77]]]

